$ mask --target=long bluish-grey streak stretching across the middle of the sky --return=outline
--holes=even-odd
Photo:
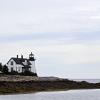
[[[21,35],[10,35],[0,36],[2,43],[6,42],[20,42],[20,41],[59,41],[65,43],[86,43],[96,42],[100,40],[100,33],[32,33],[32,34],[21,34]]]

